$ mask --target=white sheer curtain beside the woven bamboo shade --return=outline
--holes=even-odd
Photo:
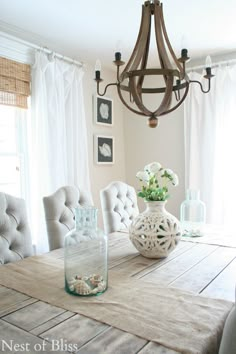
[[[90,193],[83,69],[37,51],[32,69],[31,224],[37,252],[48,250],[43,196],[63,185]]]

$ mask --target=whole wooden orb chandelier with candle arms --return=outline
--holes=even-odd
[[[149,68],[148,58],[152,16],[154,18],[157,64],[155,67]],[[204,78],[208,81],[208,88],[206,90],[200,81],[189,79],[186,73],[186,63],[189,59],[186,48],[181,50],[180,58],[177,58],[175,55],[165,27],[162,3],[159,0],[145,1],[142,5],[138,37],[130,59],[124,70],[120,72],[120,67],[125,62],[121,60],[120,50],[115,52],[113,63],[117,67],[116,82],[106,85],[103,93],[99,91],[100,83],[103,81],[101,78],[101,69],[95,69],[97,94],[104,96],[109,86],[116,86],[119,98],[125,107],[137,115],[149,117],[148,125],[154,128],[158,125],[158,117],[173,112],[184,102],[190,84],[199,84],[203,93],[210,91],[211,79],[214,77],[211,71],[210,57],[207,57],[206,74],[204,75]],[[156,87],[144,87],[147,77],[157,79]],[[160,102],[159,106],[154,110],[148,108],[148,105],[145,103],[145,95],[149,94],[161,95],[161,99],[157,100]],[[155,100],[155,97],[153,99]]]

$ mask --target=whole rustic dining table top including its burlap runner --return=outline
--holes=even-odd
[[[182,238],[153,259],[125,231],[108,243],[108,289],[89,299],[65,292],[63,248],[0,267],[0,352],[216,354],[236,247]]]

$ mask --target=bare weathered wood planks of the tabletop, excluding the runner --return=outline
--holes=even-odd
[[[63,258],[63,250],[47,256]],[[109,269],[160,286],[235,300],[236,248],[182,241],[167,258],[148,259],[137,253],[127,234],[114,233],[109,237]],[[4,286],[0,286],[0,352],[176,353]]]

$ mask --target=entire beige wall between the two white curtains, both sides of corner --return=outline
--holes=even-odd
[[[103,70],[104,81],[113,82],[115,73]],[[113,99],[114,125],[101,126],[94,123],[93,95],[96,94],[94,67],[87,65],[84,76],[84,102],[88,127],[89,168],[94,205],[98,207],[98,224],[103,227],[99,192],[111,181],[121,180],[139,188],[135,175],[144,165],[159,161],[171,168],[179,176],[179,186],[170,190],[171,198],[167,209],[179,217],[180,203],[184,199],[184,113],[183,106],[177,111],[160,118],[159,126],[151,129],[147,119],[128,111],[121,104],[116,88],[109,88],[106,96]],[[153,105],[154,96],[147,101]],[[97,165],[93,157],[94,135],[108,135],[115,138],[114,165]],[[140,210],[145,208],[143,200],[139,200]]]

